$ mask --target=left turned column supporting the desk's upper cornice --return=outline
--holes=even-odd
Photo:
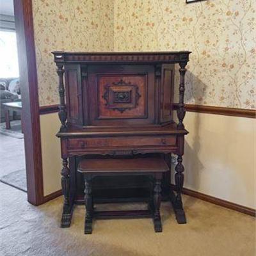
[[[60,63],[57,63],[57,74],[59,77],[59,95],[60,95],[60,106],[59,106],[59,118],[61,122],[61,127],[60,127],[60,132],[66,132],[67,131],[67,125],[66,125],[66,120],[67,120],[67,110],[66,110],[66,105],[65,105],[65,88],[63,84],[63,65]]]

